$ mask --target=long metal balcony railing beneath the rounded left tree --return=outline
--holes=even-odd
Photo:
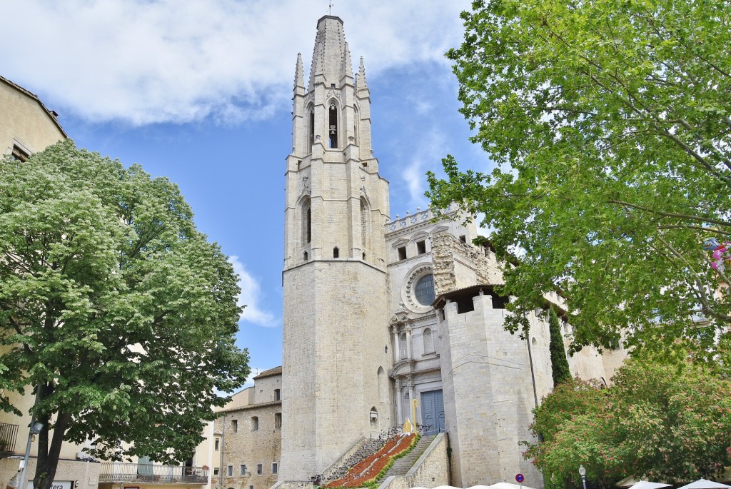
[[[203,485],[208,483],[208,469],[151,463],[109,462],[101,464],[99,482]]]

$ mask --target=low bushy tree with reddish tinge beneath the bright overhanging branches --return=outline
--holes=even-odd
[[[526,458],[544,476],[613,487],[624,477],[692,481],[731,463],[731,381],[702,363],[630,360],[612,387],[579,379],[558,385],[534,410],[543,440]]]

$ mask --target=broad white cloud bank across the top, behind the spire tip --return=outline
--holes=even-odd
[[[338,1],[354,67],[444,60],[468,0]],[[2,75],[63,115],[143,125],[264,118],[289,105],[321,0],[0,0]],[[307,73],[306,67],[306,73]],[[418,83],[418,80],[414,80]]]

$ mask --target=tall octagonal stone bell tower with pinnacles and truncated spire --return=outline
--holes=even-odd
[[[371,151],[363,59],[326,15],[308,84],[298,55],[284,209],[280,481],[321,474],[393,424],[387,352],[388,182]]]

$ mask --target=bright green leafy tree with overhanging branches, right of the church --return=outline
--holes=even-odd
[[[731,232],[731,9],[720,0],[477,0],[447,57],[495,162],[428,195],[485,214],[526,327],[561,289],[575,348],[662,345],[731,321],[706,238]],[[662,325],[659,327],[658,325]],[[713,339],[713,334],[707,336]]]

